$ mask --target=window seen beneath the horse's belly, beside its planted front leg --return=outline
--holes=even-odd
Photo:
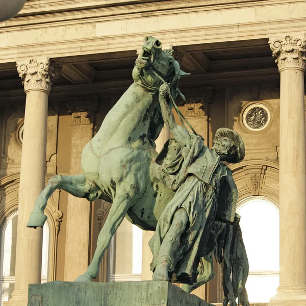
[[[123,219],[111,244],[109,281],[141,281],[142,230]]]

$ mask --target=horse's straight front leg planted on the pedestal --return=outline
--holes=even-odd
[[[113,235],[117,231],[117,228],[121,224],[131,205],[132,199],[130,198],[129,193],[121,192],[120,194],[116,194],[106,222],[99,233],[97,248],[92,262],[88,266],[87,271],[75,279],[75,282],[90,282],[91,278],[97,277],[104,252],[109,246]]]

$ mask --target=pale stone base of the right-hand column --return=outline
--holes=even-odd
[[[306,306],[306,287],[284,287],[278,287],[277,294],[269,301],[269,306]]]

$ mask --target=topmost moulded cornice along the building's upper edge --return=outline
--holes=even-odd
[[[18,14],[17,18],[12,18],[4,22],[0,22],[0,30],[10,28],[10,31],[30,30],[46,27],[73,25],[82,22],[100,22],[109,20],[122,20],[126,18],[164,16],[182,13],[199,13],[216,10],[230,10],[235,8],[252,8],[276,6],[283,4],[305,3],[303,0],[193,0],[186,2],[185,0],[171,1],[88,1],[88,0],[64,0],[54,2],[52,0],[29,1]],[[33,4],[34,3],[34,4]],[[36,6],[36,10],[29,10]],[[82,5],[83,4],[83,5]],[[53,9],[54,8],[54,9]],[[52,24],[55,23],[55,24]]]

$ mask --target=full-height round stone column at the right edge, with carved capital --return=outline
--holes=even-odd
[[[280,271],[269,305],[306,305],[305,38],[269,41],[281,73],[279,126]]]

